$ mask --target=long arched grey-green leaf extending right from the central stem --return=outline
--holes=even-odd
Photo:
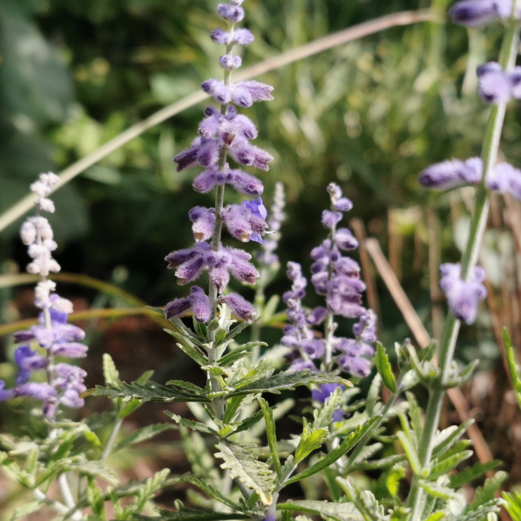
[[[283,390],[294,390],[300,385],[317,385],[324,383],[341,383],[352,387],[352,383],[333,373],[311,373],[309,369],[304,371],[282,371],[276,375],[259,378],[250,384],[240,387],[240,389],[231,392],[229,397],[242,396],[243,394],[257,394],[259,392],[270,392],[280,394]]]

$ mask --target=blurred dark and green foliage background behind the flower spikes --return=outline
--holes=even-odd
[[[435,0],[434,7],[444,13],[449,4]],[[214,0],[1,0],[0,212],[25,195],[40,172],[59,173],[220,75],[221,49],[208,37],[221,26],[216,6]],[[256,39],[243,63],[376,16],[429,7],[428,0],[247,0],[245,25]],[[501,34],[499,23],[470,32],[450,22],[395,27],[259,78],[274,85],[275,100],[245,112],[259,126],[259,146],[275,157],[262,174],[265,200],[277,180],[288,194],[281,264],[292,259],[309,266],[309,251],[325,234],[320,215],[328,205],[326,186],[335,181],[354,202],[351,217],[364,221],[385,255],[394,241],[393,267],[432,331],[425,209],[434,208],[440,219],[444,262],[459,257],[455,244],[468,210],[464,197],[420,188],[417,175],[432,162],[480,154],[488,109],[476,94],[475,65],[497,58]],[[191,245],[188,210],[212,202],[192,191],[194,172],[176,173],[171,158],[195,136],[204,106],[147,131],[60,188],[51,220],[63,271],[112,281],[156,306],[186,292],[164,257]],[[508,107],[501,146],[515,166],[521,165],[518,107]],[[27,264],[19,224],[0,233],[4,274]],[[496,242],[492,238],[488,246],[492,270],[500,265],[494,264]],[[283,271],[268,294],[288,289]],[[500,287],[501,273],[494,276]],[[117,305],[81,285],[60,285],[59,291],[77,308]],[[378,294],[383,340],[403,341],[411,333],[380,279]],[[310,305],[319,302],[313,298]],[[30,300],[27,287],[1,288],[0,321],[34,316]],[[129,378],[165,360],[163,373],[173,367],[172,342],[162,340],[155,323],[133,320],[112,336],[91,328],[91,383],[103,350],[119,352]],[[266,334],[273,341],[280,336],[279,330]],[[6,347],[0,361],[11,356],[8,340]],[[464,328],[458,348],[461,361],[474,356],[483,359],[482,369],[499,367],[497,378],[505,380],[486,311],[475,328]]]

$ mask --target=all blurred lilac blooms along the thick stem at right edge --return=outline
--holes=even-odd
[[[477,27],[496,18],[507,19],[513,14],[512,0],[463,0],[451,8],[454,22],[468,27]],[[520,18],[521,8],[515,13]],[[503,70],[496,62],[477,67],[479,93],[485,103],[506,103],[511,98],[521,98],[521,67]],[[468,160],[450,160],[427,167],[420,173],[420,184],[426,188],[447,190],[464,185],[484,182],[490,190],[508,193],[521,200],[521,170],[508,163],[499,163],[483,178],[483,161],[480,157]],[[446,292],[452,314],[465,323],[473,323],[477,316],[480,300],[487,297],[482,284],[484,269],[476,266],[468,281],[461,279],[461,264],[440,266],[440,286]]]

